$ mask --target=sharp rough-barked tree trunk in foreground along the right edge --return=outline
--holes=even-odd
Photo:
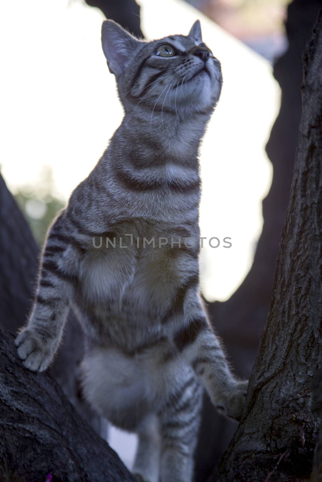
[[[216,482],[309,479],[322,363],[322,13],[304,54],[302,119],[266,329],[247,407]]]

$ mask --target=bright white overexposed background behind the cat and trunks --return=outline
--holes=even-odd
[[[280,91],[271,67],[181,0],[138,0],[148,38],[188,33],[201,20],[203,39],[222,62],[224,87],[201,149],[202,236],[232,238],[232,247],[201,253],[209,300],[227,299],[252,264],[262,229],[261,201],[271,183],[264,147]],[[15,0],[0,4],[0,162],[14,192],[37,187],[44,165],[56,194],[93,169],[122,119],[100,46],[102,13],[81,0]],[[110,443],[131,465],[135,437],[112,428]]]

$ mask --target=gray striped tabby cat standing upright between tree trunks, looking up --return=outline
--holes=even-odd
[[[197,155],[221,67],[199,21],[188,36],[149,42],[107,20],[102,46],[125,116],[48,231],[16,346],[28,369],[45,370],[72,307],[87,340],[84,397],[138,433],[138,480],[190,482],[201,385],[237,420],[247,389],[230,372],[198,286]]]

